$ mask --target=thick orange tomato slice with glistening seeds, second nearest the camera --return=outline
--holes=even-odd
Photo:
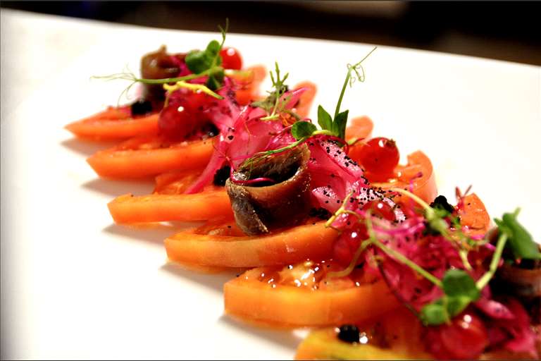
[[[287,263],[286,263],[287,264]],[[359,322],[397,307],[384,281],[362,269],[327,278],[329,262],[251,269],[224,286],[225,312],[258,324],[325,326]]]

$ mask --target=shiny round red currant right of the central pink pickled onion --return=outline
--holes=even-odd
[[[361,148],[360,159],[364,169],[374,175],[390,175],[398,165],[400,154],[394,140],[376,137]]]

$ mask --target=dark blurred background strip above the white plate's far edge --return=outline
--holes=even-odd
[[[369,42],[541,65],[537,1],[2,1],[150,27]]]

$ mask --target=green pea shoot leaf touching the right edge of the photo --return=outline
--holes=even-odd
[[[507,234],[508,247],[515,259],[541,259],[539,246],[533,241],[532,235],[516,220],[518,212],[506,213],[502,219],[495,219],[499,232]]]

